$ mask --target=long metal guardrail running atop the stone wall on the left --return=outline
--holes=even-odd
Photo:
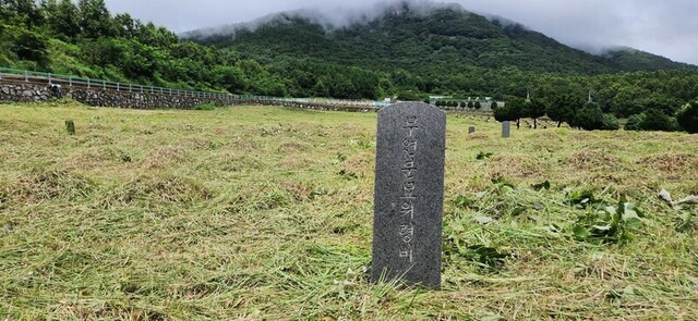
[[[137,85],[129,83],[116,83],[104,79],[92,79],[88,77],[80,77],[72,75],[61,75],[52,73],[41,73],[25,70],[15,70],[8,67],[0,67],[0,81],[14,81],[14,82],[33,82],[45,83],[50,85],[61,86],[79,86],[85,88],[100,88],[117,91],[130,91],[130,92],[143,92],[143,94],[159,94],[159,95],[176,95],[184,97],[201,97],[201,98],[214,98],[214,99],[232,99],[240,101],[265,101],[277,103],[309,103],[309,104],[326,104],[326,106],[342,106],[342,107],[365,107],[380,109],[389,106],[390,102],[386,101],[372,101],[372,100],[350,100],[350,99],[329,99],[329,98],[287,98],[287,97],[269,97],[269,96],[253,96],[253,95],[233,95],[228,92],[214,92],[214,91],[193,91],[184,89],[154,87],[147,85]]]

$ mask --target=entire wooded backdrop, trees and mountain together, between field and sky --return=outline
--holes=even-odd
[[[255,28],[181,38],[111,14],[104,0],[0,0],[0,66],[268,96],[489,96],[519,106],[500,118],[543,108],[586,128],[613,127],[600,125],[601,114],[637,128],[666,116],[665,129],[676,129],[678,113],[695,110],[687,103],[698,98],[694,65],[633,49],[593,55],[512,22],[407,2],[342,27],[287,13]],[[519,103],[527,92],[535,103]],[[592,125],[576,114],[593,115]]]

